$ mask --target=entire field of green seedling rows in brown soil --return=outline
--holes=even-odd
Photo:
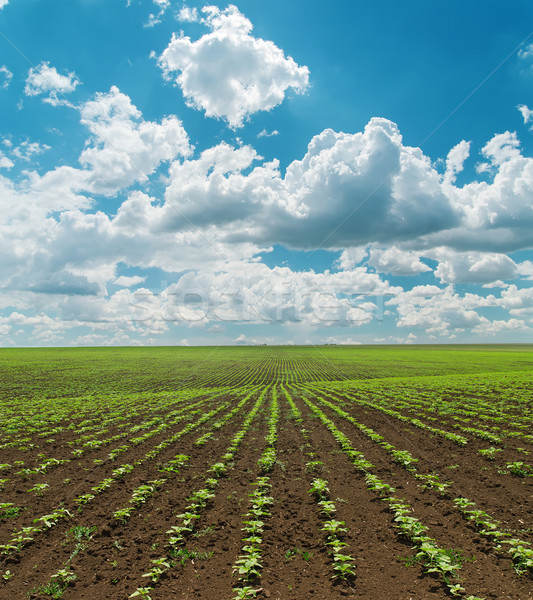
[[[533,346],[0,351],[0,598],[530,600]]]

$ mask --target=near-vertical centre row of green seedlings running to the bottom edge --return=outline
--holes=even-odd
[[[233,572],[237,574],[238,584],[234,586],[234,600],[255,598],[260,588],[257,588],[261,579],[262,550],[264,520],[270,516],[269,506],[274,499],[268,495],[271,489],[269,473],[276,464],[276,442],[278,439],[277,425],[279,421],[279,405],[276,388],[272,388],[270,401],[270,417],[266,435],[266,448],[257,461],[260,475],[253,485],[256,489],[249,494],[250,508],[243,521],[241,552],[233,566]]]

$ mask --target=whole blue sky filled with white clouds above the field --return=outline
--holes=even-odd
[[[0,0],[0,344],[532,341],[532,23]]]

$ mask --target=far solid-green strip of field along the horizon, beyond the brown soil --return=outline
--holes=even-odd
[[[530,372],[533,345],[232,346],[0,350],[3,397],[79,396],[239,385],[272,366],[274,380],[303,369],[311,379],[378,379]],[[270,381],[269,381],[270,383]]]

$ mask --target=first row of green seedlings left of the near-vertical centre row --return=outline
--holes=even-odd
[[[172,525],[166,532],[167,539],[167,555],[158,559],[152,560],[152,566],[143,577],[150,580],[149,585],[138,587],[130,596],[131,598],[140,597],[145,600],[150,600],[150,592],[154,586],[159,583],[161,577],[170,569],[178,564],[178,559],[183,555],[186,549],[187,541],[194,533],[195,525],[201,517],[201,513],[213,500],[218,487],[219,479],[223,477],[237,453],[243,439],[247,435],[252,423],[257,416],[257,413],[263,406],[268,388],[265,388],[258,396],[252,409],[245,417],[243,424],[237,433],[233,436],[230,445],[226,448],[224,454],[207,469],[208,476],[204,482],[204,487],[191,494],[186,502],[185,509],[177,515],[179,524]]]

